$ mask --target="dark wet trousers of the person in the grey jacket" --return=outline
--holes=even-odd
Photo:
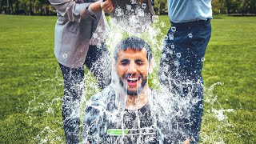
[[[98,80],[102,89],[110,84],[111,58],[106,45],[90,46],[84,65]],[[62,100],[62,120],[66,143],[79,142],[80,102],[84,90],[84,66],[70,68],[59,63],[64,80],[64,97]]]

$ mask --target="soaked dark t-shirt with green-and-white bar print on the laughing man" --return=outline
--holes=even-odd
[[[82,142],[86,143],[182,143],[186,140],[186,113],[179,114],[180,99],[164,99],[152,90],[146,106],[124,108],[125,96],[116,97],[113,86],[86,102]],[[154,98],[157,97],[157,98]],[[166,95],[170,97],[170,95]],[[166,104],[167,103],[167,104]],[[179,114],[179,115],[177,115]]]

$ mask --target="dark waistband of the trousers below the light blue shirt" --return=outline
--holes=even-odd
[[[194,21],[194,22],[182,22],[182,23],[175,23],[171,22],[171,26],[175,26],[176,28],[186,28],[190,26],[205,26],[206,24],[210,23],[211,19],[206,19],[206,20],[199,20],[199,21]]]

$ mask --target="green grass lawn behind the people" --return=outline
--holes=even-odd
[[[65,142],[62,74],[54,58],[56,19],[0,14],[0,143]],[[156,42],[142,34],[154,47],[153,87],[158,86],[155,78],[168,21],[161,16],[154,24]],[[203,69],[201,142],[256,143],[256,17],[216,16],[212,30]],[[98,87],[91,74],[86,75],[90,97]]]

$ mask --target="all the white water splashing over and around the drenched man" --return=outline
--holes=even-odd
[[[136,1],[131,1],[132,4],[135,4]],[[145,9],[146,6],[144,3],[142,3],[142,8]],[[134,10],[132,6],[127,5],[126,9],[129,11]],[[116,8],[115,10],[117,16],[122,16],[125,14],[125,12],[120,9]],[[118,42],[120,42],[123,38],[127,36],[137,36],[139,38],[145,39],[147,42],[150,43],[150,47],[152,48],[154,52],[155,58],[160,58],[160,52],[159,50],[162,50],[162,42],[166,38],[173,39],[173,35],[169,35],[165,37],[165,34],[162,33],[160,27],[168,26],[164,22],[161,22],[158,16],[153,16],[153,24],[151,25],[151,22],[141,22],[141,17],[146,17],[147,15],[144,13],[142,9],[135,9],[134,13],[136,15],[130,16],[126,19],[126,23],[124,22],[118,22],[117,18],[110,18],[110,34],[109,38],[106,41],[106,45],[109,46],[110,53],[113,53],[114,47],[117,45]],[[150,18],[151,19],[151,18]],[[117,24],[118,23],[118,24]],[[143,23],[143,26],[142,26]],[[140,29],[140,30],[138,30]],[[171,30],[176,30],[172,27]],[[141,33],[143,32],[143,33]],[[94,38],[98,38],[97,35],[93,35]],[[189,35],[190,38],[193,38],[193,35]],[[174,48],[174,45],[171,45],[171,48]],[[173,54],[173,51],[170,50],[170,54]],[[181,57],[180,53],[176,54],[177,58]],[[64,55],[63,55],[64,57]],[[66,57],[66,55],[65,55]],[[156,63],[159,63],[159,59],[155,59]],[[203,58],[202,61],[205,59]],[[102,62],[98,62],[94,64],[95,66],[102,66]],[[179,66],[180,63],[178,61],[174,62],[175,66]],[[167,67],[167,65],[166,65]],[[167,69],[168,70],[168,69]],[[48,143],[48,142],[65,142],[64,134],[62,133],[63,127],[62,127],[62,116],[60,115],[62,111],[62,95],[56,95],[58,87],[55,87],[57,84],[58,86],[62,86],[62,78],[58,78],[58,71],[56,70],[56,76],[53,79],[39,79],[38,80],[38,86],[42,88],[42,93],[35,94],[34,93],[34,99],[29,102],[29,108],[26,111],[27,114],[30,115],[30,125],[39,125],[40,127],[44,127],[41,129],[41,131],[38,133],[38,135],[34,138],[33,142],[35,143]],[[114,69],[112,70],[112,77],[113,82],[118,82],[118,76],[114,73]],[[158,82],[158,66],[156,66],[154,73],[150,74],[151,81],[154,85],[152,85],[155,89],[158,89],[159,82]],[[93,82],[92,82],[93,81]],[[43,89],[43,85],[45,83],[51,83],[52,87],[54,88],[53,91],[46,92]],[[100,90],[98,88],[98,84],[95,81],[94,76],[90,73],[86,73],[85,75],[85,82],[86,82],[86,89],[83,92],[82,99],[79,99],[75,103],[85,103],[86,98],[89,98],[90,95],[98,93]],[[187,83],[187,85],[190,85],[190,82]],[[228,118],[226,116],[226,113],[232,113],[234,112],[233,109],[222,109],[220,106],[221,104],[218,102],[218,96],[213,94],[214,86],[216,85],[222,85],[222,83],[217,82],[214,85],[210,86],[209,88],[205,87],[205,94],[204,94],[204,100],[205,100],[205,106],[207,105],[209,108],[204,112],[203,122],[202,122],[202,130],[201,130],[201,142],[202,143],[225,143],[223,141],[223,138],[225,135],[218,134],[219,131],[222,131],[221,134],[225,133],[225,131],[229,131],[229,127],[231,126],[228,122]],[[78,86],[82,87],[82,86]],[[115,90],[122,91],[122,87],[119,85],[114,85]],[[62,90],[62,88],[60,88]],[[186,120],[188,115],[190,115],[190,111],[192,109],[191,103],[198,102],[197,98],[193,98],[192,91],[187,94],[187,97],[181,97],[178,92],[170,93],[169,90],[162,87],[161,90],[156,90],[153,92],[154,98],[149,98],[150,102],[150,108],[152,110],[152,115],[155,116],[153,120],[152,126],[154,126],[153,133],[158,133],[158,137],[161,139],[160,143],[163,142],[163,138],[170,138],[172,142],[176,142],[177,139],[175,138],[185,138],[187,136],[186,128],[184,127],[184,123],[181,122],[182,120]],[[45,97],[45,100],[39,99],[38,96]],[[113,123],[116,123],[117,126],[121,126],[121,137],[120,139],[116,139],[113,143],[122,143],[125,140],[125,134],[126,130],[123,127],[123,123],[125,120],[126,112],[124,108],[124,104],[126,102],[126,94],[122,95],[121,97],[116,98],[117,99],[117,108],[110,111],[106,110],[106,108],[109,106],[108,104],[111,103],[109,98],[109,94],[102,95],[102,99],[99,101],[101,106],[98,106],[97,109],[100,110],[99,115],[103,114],[109,114],[111,115],[111,121]],[[90,106],[92,103],[87,102],[87,105]],[[78,113],[74,113],[72,117],[80,117],[82,126],[82,118],[83,118],[83,111],[84,111],[84,104],[81,105],[81,107],[77,107]],[[218,108],[216,108],[218,107]],[[220,108],[219,108],[220,107]],[[203,109],[203,106],[199,106],[200,109]],[[81,109],[81,110],[80,110]],[[41,114],[38,114],[41,113]],[[135,115],[138,115],[138,110],[135,112]],[[38,118],[42,118],[42,121],[44,122],[40,124],[38,122]],[[49,118],[49,119],[48,119]],[[58,119],[58,120],[56,120]],[[157,120],[156,120],[157,119]],[[129,121],[129,120],[127,120]],[[101,123],[102,121],[98,119],[98,123]],[[218,123],[217,129],[215,130],[216,135],[210,136],[207,135],[204,131],[206,131],[205,122],[216,122]],[[160,123],[160,124],[159,124]],[[103,122],[102,122],[103,124]],[[142,133],[142,129],[140,128],[140,119],[137,119],[136,122],[133,123],[133,127],[136,127],[140,131],[140,134]],[[206,126],[203,126],[206,125]],[[102,131],[105,131],[103,129]],[[98,131],[98,133],[102,133],[102,131]],[[224,132],[223,132],[224,131]],[[118,133],[117,131],[115,131]],[[147,131],[151,134],[151,129]],[[112,134],[110,132],[110,134]],[[113,132],[114,134],[114,132]],[[148,135],[147,142],[150,142],[154,139],[153,135]],[[170,135],[171,134],[171,135]],[[95,134],[96,136],[97,134]],[[142,134],[140,135],[142,137]],[[137,138],[137,137],[136,137]],[[141,139],[136,139],[136,142],[142,142]],[[144,138],[145,140],[146,138]],[[112,139],[113,140],[113,139]],[[182,141],[178,141],[180,143]]]

